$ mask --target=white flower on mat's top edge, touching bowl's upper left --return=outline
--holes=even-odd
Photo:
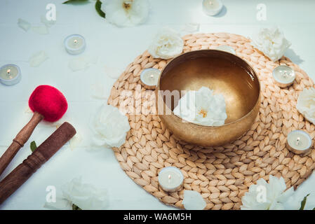
[[[169,59],[180,55],[184,48],[184,41],[176,31],[163,28],[149,45],[149,53],[156,58]]]

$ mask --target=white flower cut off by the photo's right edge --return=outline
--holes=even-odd
[[[313,87],[304,89],[297,98],[297,111],[302,113],[304,118],[315,124],[315,89]]]

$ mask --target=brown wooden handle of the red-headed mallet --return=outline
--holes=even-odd
[[[15,139],[11,146],[4,152],[4,155],[0,158],[0,175],[4,172],[4,169],[8,167],[11,160],[13,160],[14,156],[21,147],[27,142],[31,134],[33,133],[35,127],[39,124],[39,122],[43,119],[43,116],[40,113],[35,112],[29,120],[29,123],[25,125],[20,132],[16,135]]]

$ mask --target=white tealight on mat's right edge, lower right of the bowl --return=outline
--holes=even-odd
[[[295,130],[288,134],[288,150],[295,154],[308,155],[311,152],[311,144],[311,137],[307,134],[307,132]]]

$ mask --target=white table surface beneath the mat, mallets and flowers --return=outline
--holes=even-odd
[[[27,100],[32,90],[42,84],[58,87],[65,94],[69,109],[62,120],[68,120],[76,127],[82,141],[73,149],[69,145],[64,146],[0,209],[44,209],[46,187],[56,186],[58,189],[76,176],[82,176],[86,183],[107,188],[109,209],[174,209],[162,204],[129,179],[109,148],[93,150],[88,128],[95,109],[105,102],[92,97],[93,85],[100,83],[104,96],[108,97],[114,78],[147,49],[152,36],[163,26],[180,31],[186,23],[195,22],[200,24],[201,32],[226,31],[252,36],[260,27],[277,25],[292,43],[286,56],[315,78],[315,1],[223,2],[226,6],[224,11],[216,17],[208,17],[202,12],[201,0],[151,0],[150,15],[144,25],[118,28],[100,18],[95,12],[94,2],[72,6],[62,5],[60,0],[1,0],[0,65],[18,64],[22,80],[11,87],[0,85],[0,154],[32,116],[32,113],[26,112]],[[57,8],[57,21],[49,29],[50,34],[25,32],[18,27],[18,18],[40,25],[47,3],[55,3]],[[267,6],[266,21],[256,18],[258,3]],[[91,64],[84,71],[69,69],[69,60],[77,57],[68,55],[63,47],[62,41],[69,34],[81,34],[86,38],[87,48],[81,57],[97,56],[96,64]],[[29,66],[29,57],[40,50],[45,50],[49,58],[39,67]],[[27,158],[31,153],[31,141],[35,140],[39,145],[54,130],[54,125],[39,124],[1,178]],[[286,206],[296,209],[299,207],[297,201],[311,193],[307,208],[315,207],[314,185],[315,174],[300,186],[295,198]]]

